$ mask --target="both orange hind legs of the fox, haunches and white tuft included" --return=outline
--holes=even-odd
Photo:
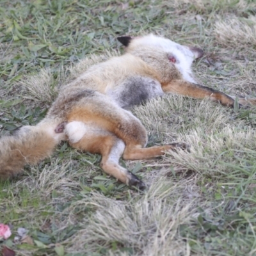
[[[188,148],[178,143],[145,148],[147,131],[140,120],[100,93],[77,102],[68,113],[67,122],[65,134],[72,147],[101,154],[102,169],[132,186],[142,187],[143,182],[118,164],[121,156],[131,160],[151,159],[164,155],[166,150]]]

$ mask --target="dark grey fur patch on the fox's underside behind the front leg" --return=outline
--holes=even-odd
[[[133,76],[114,90],[109,90],[108,95],[124,109],[139,105],[148,99],[163,95],[161,84],[150,78]]]

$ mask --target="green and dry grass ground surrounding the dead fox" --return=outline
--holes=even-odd
[[[254,1],[0,1],[0,134],[36,124],[58,86],[119,54],[118,35],[156,33],[204,48],[206,86],[255,93]],[[122,52],[122,49],[120,49]],[[93,54],[93,55],[92,55]],[[85,60],[84,60],[85,58]],[[100,156],[63,143],[0,183],[0,242],[16,255],[256,255],[256,109],[168,95],[132,109],[148,145],[187,141],[191,153],[122,161],[140,193],[102,173]],[[19,227],[33,243],[14,242]]]

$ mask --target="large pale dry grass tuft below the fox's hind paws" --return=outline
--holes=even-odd
[[[181,186],[172,180],[155,180],[145,195],[128,202],[99,193],[84,196],[76,204],[92,205],[97,211],[83,221],[70,252],[90,253],[99,244],[109,247],[116,241],[118,246],[133,248],[136,253],[132,255],[189,255],[189,245],[182,241],[178,229],[180,225],[189,225],[196,216],[195,202],[186,194],[186,188],[192,187],[195,180],[182,181]]]

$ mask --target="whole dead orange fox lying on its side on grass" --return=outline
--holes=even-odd
[[[36,126],[24,126],[0,139],[0,177],[6,179],[51,155],[62,140],[84,152],[101,154],[104,172],[129,186],[145,184],[120,166],[120,157],[150,159],[185,143],[145,148],[147,131],[127,109],[145,100],[178,93],[196,99],[209,98],[223,106],[234,106],[234,98],[196,84],[191,64],[203,55],[155,35],[117,38],[125,54],[93,65],[71,83],[61,86],[47,116]],[[249,100],[256,104],[255,99]],[[239,99],[239,104],[246,104]]]

